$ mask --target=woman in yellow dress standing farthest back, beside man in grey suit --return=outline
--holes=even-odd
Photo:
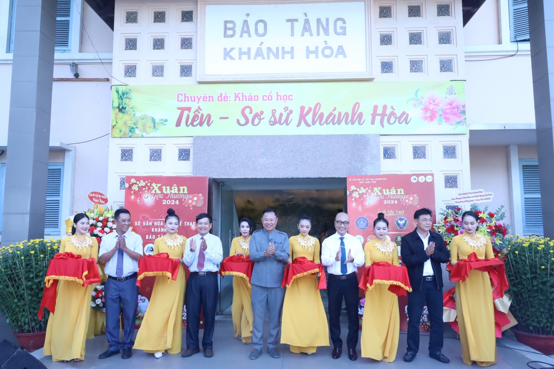
[[[233,238],[231,242],[231,251],[229,256],[250,254],[250,235],[254,231],[252,220],[243,218],[239,222],[240,236]],[[231,313],[233,316],[233,326],[235,328],[235,337],[242,340],[244,344],[252,342],[252,321],[254,315],[252,313],[252,286],[248,280],[243,277],[233,277],[233,305]]]

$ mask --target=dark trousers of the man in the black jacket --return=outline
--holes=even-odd
[[[428,319],[431,323],[429,335],[429,352],[440,352],[443,349],[443,292],[438,289],[437,280],[425,280],[421,290],[408,292],[408,352],[419,351],[419,322],[423,306],[427,302]]]

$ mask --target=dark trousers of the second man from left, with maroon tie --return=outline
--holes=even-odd
[[[187,280],[184,302],[187,306],[187,349],[198,349],[198,330],[200,326],[200,311],[204,313],[204,336],[202,348],[213,349],[213,328],[216,323],[217,308],[217,274],[197,276],[192,274]]]

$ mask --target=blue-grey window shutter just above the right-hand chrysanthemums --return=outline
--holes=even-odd
[[[541,233],[541,186],[538,180],[537,160],[521,160],[521,183],[524,205],[524,233]]]

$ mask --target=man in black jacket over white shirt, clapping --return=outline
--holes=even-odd
[[[447,263],[450,253],[443,237],[430,231],[433,213],[419,209],[414,214],[416,230],[402,237],[400,253],[408,268],[412,292],[408,293],[408,349],[404,361],[412,361],[419,350],[419,321],[427,302],[431,332],[429,356],[440,362],[450,360],[440,352],[443,348],[443,274],[441,263]]]

